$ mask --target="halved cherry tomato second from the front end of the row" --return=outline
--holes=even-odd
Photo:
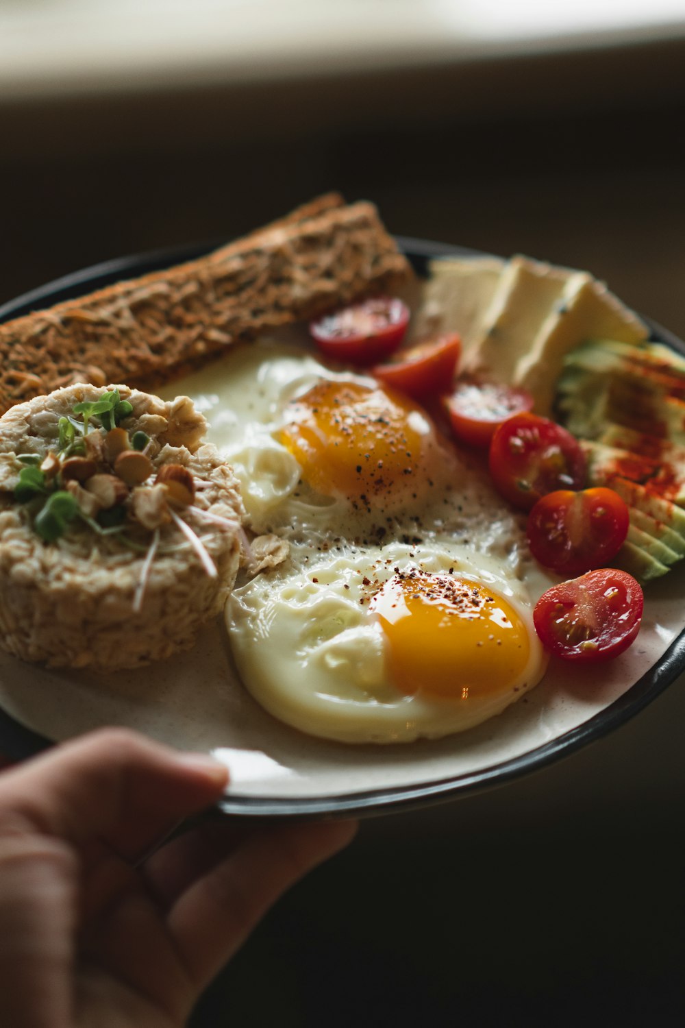
[[[528,542],[544,567],[581,575],[613,560],[629,523],[627,507],[613,489],[559,489],[541,497],[528,515]]]

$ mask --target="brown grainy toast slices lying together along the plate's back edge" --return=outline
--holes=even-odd
[[[329,193],[198,260],[0,325],[0,413],[75,381],[150,389],[411,277],[376,208]]]

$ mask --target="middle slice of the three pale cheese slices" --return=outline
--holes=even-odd
[[[465,371],[511,382],[525,357],[578,272],[516,256],[508,261],[483,319],[481,336],[462,364]]]

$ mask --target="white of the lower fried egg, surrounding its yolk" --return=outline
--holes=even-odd
[[[460,732],[499,713],[537,684],[546,659],[535,634],[525,586],[501,563],[455,544],[321,555],[304,547],[289,565],[235,590],[226,622],[238,673],[274,717],[303,732],[342,742],[410,742]],[[393,684],[387,640],[369,613],[369,586],[395,570],[453,570],[506,598],[526,625],[530,655],[506,692],[442,699]]]

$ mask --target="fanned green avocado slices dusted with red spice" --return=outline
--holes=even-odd
[[[685,358],[661,343],[591,339],[567,354],[557,384],[588,483],[629,507],[616,566],[642,582],[665,575],[685,557]]]

